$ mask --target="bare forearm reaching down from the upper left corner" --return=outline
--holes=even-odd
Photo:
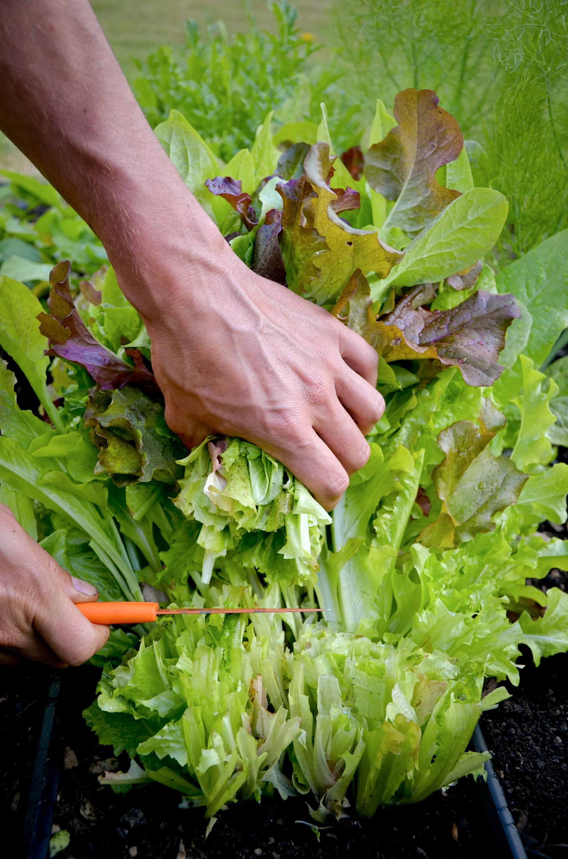
[[[222,240],[150,130],[87,0],[3,0],[0,76],[0,128],[99,235],[127,291],[136,282],[130,300],[151,314],[156,253],[167,259],[181,245],[198,259]]]

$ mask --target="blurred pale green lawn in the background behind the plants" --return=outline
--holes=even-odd
[[[324,41],[331,29],[331,9],[334,0],[293,0],[298,9],[299,27]],[[221,0],[91,0],[94,12],[105,31],[106,38],[124,74],[132,80],[136,66],[132,58],[143,59],[160,45],[180,45],[184,40],[184,24],[193,18],[206,26],[219,19],[227,24],[229,33],[245,32],[248,21],[243,3],[223,3]],[[265,0],[249,0],[257,26],[274,30],[274,15]],[[27,158],[0,134],[0,168],[19,173],[39,175]]]

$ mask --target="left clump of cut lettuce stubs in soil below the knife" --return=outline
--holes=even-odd
[[[220,596],[234,598],[227,589]],[[101,742],[142,766],[133,759],[128,772],[101,781],[165,784],[184,795],[185,807],[204,806],[207,817],[261,792],[293,794],[281,772],[300,730],[287,710],[284,632],[272,622],[257,629],[242,615],[168,618],[131,659],[107,666],[84,715]]]

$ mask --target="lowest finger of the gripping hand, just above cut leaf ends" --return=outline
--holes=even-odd
[[[280,460],[323,509],[333,509],[349,485],[345,468],[311,427],[286,437],[285,446],[263,449]]]

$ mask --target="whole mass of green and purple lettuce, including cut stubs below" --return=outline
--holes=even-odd
[[[228,164],[180,113],[156,129],[240,259],[378,350],[384,417],[331,517],[249,442],[184,455],[112,270],[74,297],[56,265],[48,313],[0,280],[0,343],[45,418],[3,363],[0,499],[27,532],[105,600],[328,609],[113,631],[85,716],[130,755],[114,789],[159,782],[210,818],[274,791],[310,795],[319,822],[419,801],[480,772],[468,740],[507,697],[484,679],[517,684],[521,644],[537,664],[568,649],[568,596],[527,584],[568,569],[538,533],[566,516],[568,376],[539,368],[568,326],[568,236],[494,277],[505,198],[473,186],[431,90],[394,116],[378,101],[366,153],[341,159],[325,112],[285,151],[269,113]]]

